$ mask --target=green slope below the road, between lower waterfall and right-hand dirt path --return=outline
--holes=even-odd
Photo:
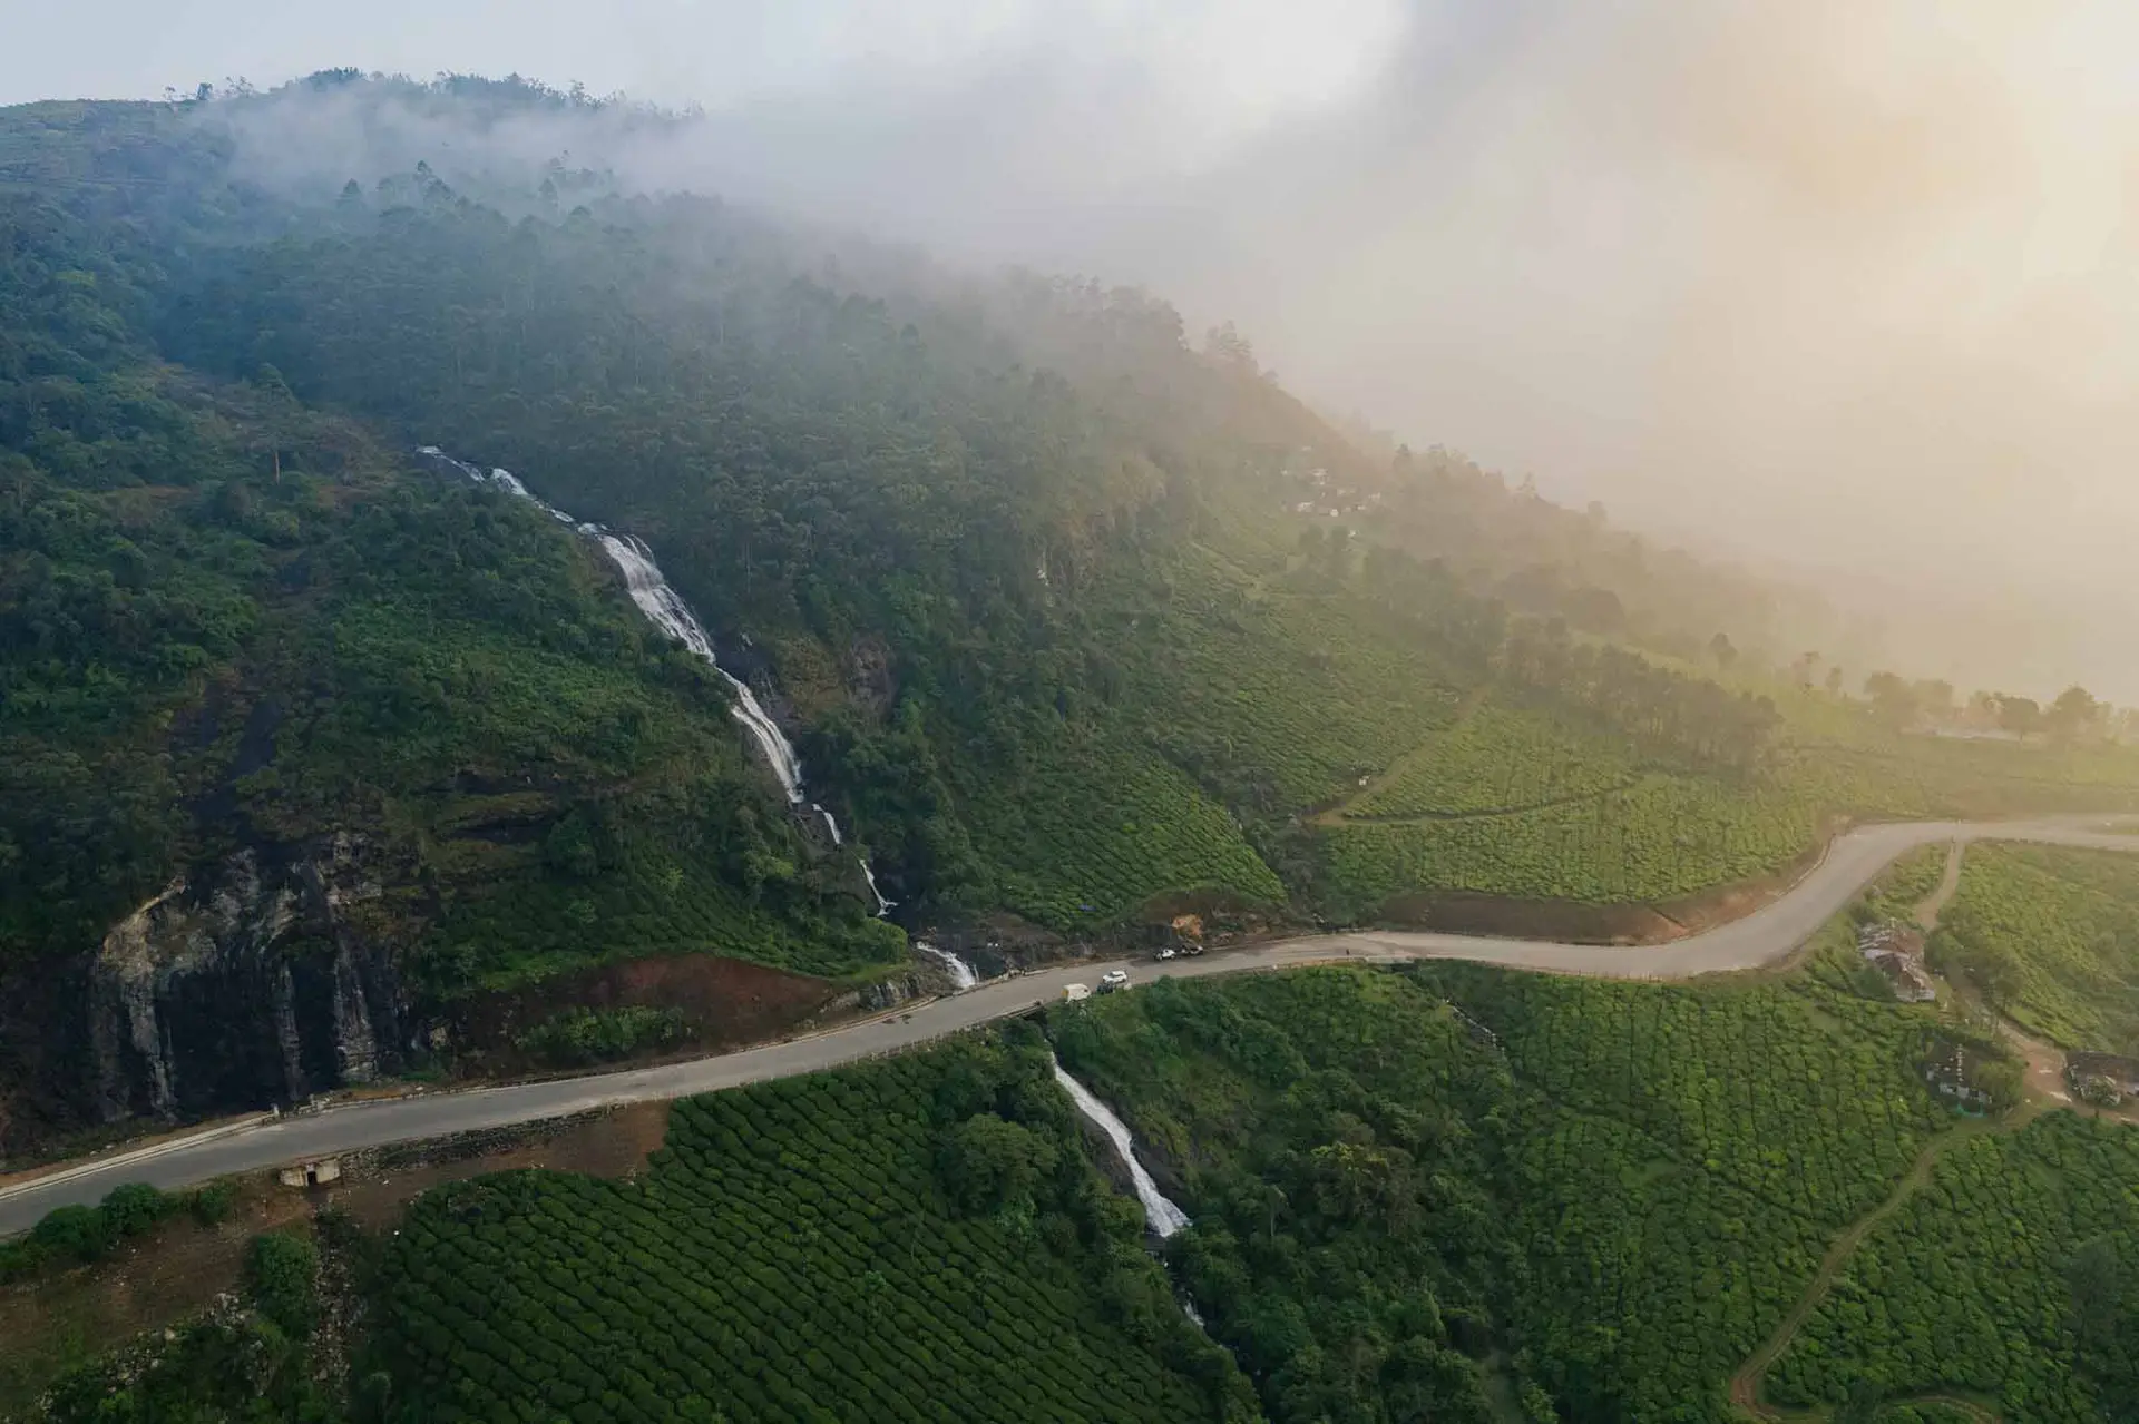
[[[1728,1418],[1829,1236],[1942,1131],[1932,1020],[1833,941],[1780,986],[1328,969],[1052,1026],[1174,1163],[1172,1259],[1273,1420],[1420,1418],[1378,1375],[1420,1345],[1455,1351],[1425,1418],[1493,1418],[1495,1371],[1538,1420]]]

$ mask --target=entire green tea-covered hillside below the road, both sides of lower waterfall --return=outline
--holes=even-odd
[[[344,1304],[364,1304],[347,1403],[261,1294],[139,1394],[96,1362],[47,1418],[227,1409],[248,1358],[308,1418],[376,1422],[1724,1424],[1769,1351],[1760,1398],[1807,1418],[2139,1398],[2139,1137],[1955,1114],[1921,1065],[1966,1031],[1867,986],[1846,919],[1765,979],[1330,966],[1044,1028],[678,1103],[631,1180],[453,1182],[374,1238],[325,1219]],[[1189,1212],[1157,1255],[1050,1048]]]

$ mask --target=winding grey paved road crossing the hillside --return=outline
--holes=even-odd
[[[2032,840],[2118,851],[2139,851],[2139,836],[2100,830],[2111,817],[2056,817],[2041,821],[1961,823],[1925,821],[1855,830],[1829,847],[1788,894],[1733,924],[1668,945],[1602,947],[1519,939],[1480,939],[1414,930],[1365,930],[1273,941],[1215,951],[1157,966],[1151,960],[1074,964],[992,979],[980,988],[937,999],[911,1013],[871,1018],[845,1028],[787,1043],[770,1043],[717,1058],[693,1058],[625,1073],[597,1073],[475,1088],[424,1097],[396,1097],[314,1116],[282,1116],[212,1135],[182,1137],[105,1161],[88,1161],[47,1178],[0,1189],[0,1236],[24,1232],[56,1206],[98,1202],[120,1182],[186,1187],[233,1172],[257,1172],[310,1157],[332,1157],[389,1142],[443,1137],[486,1127],[537,1123],[614,1103],[689,1097],[768,1078],[791,1078],[890,1054],[975,1024],[1059,999],[1065,984],[1093,984],[1108,969],[1127,969],[1138,981],[1202,977],[1251,969],[1283,969],[1330,960],[1476,960],[1542,973],[1615,979],[1686,979],[1786,960],[1895,857],[1946,840]]]

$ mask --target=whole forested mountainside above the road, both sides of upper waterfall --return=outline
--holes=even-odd
[[[349,73],[0,113],[9,1150],[451,1056],[471,994],[635,956],[809,1011],[905,966],[864,864],[911,928],[1076,943],[1668,909],[1850,817],[2133,804],[2128,750],[1705,654],[1758,599],[1696,562],[1651,603],[1748,626],[1615,644],[1626,552],[1566,511],[1360,453],[1147,293],[633,169],[687,126]],[[590,541],[424,445],[642,539],[845,838]]]

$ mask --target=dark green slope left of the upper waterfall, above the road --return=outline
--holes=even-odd
[[[391,1071],[558,958],[898,958],[590,545],[169,368],[109,229],[6,233],[0,1142]]]

